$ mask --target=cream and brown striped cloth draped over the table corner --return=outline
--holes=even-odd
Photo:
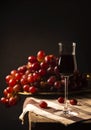
[[[39,102],[43,100],[47,102],[47,108],[40,108]],[[38,99],[38,98],[27,98],[23,105],[23,112],[19,116],[19,119],[22,120],[22,124],[24,124],[24,115],[27,112],[33,112],[37,115],[41,115],[43,117],[55,120],[64,125],[69,125],[78,121],[91,119],[91,102],[90,99],[79,100],[79,104],[75,106],[70,106],[72,108],[71,115],[72,116],[64,116],[62,115],[64,104],[58,103],[57,100],[46,100],[46,99]]]

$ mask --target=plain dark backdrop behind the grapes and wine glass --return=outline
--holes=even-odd
[[[41,49],[58,55],[58,42],[77,43],[78,69],[91,72],[90,4],[88,1],[6,1],[0,4],[0,96],[5,76],[27,63]],[[23,129],[18,121],[21,102],[13,108],[0,104],[0,127]],[[6,124],[6,125],[5,125]],[[11,125],[10,125],[11,124]],[[24,127],[24,126],[23,126]],[[1,128],[0,128],[1,129]],[[27,129],[24,128],[24,129]]]

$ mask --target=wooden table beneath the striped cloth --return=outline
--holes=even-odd
[[[91,93],[89,94],[84,94],[80,96],[84,96],[88,98],[89,100],[91,99]],[[80,97],[78,96],[78,97]],[[25,99],[24,105],[27,102],[27,98]],[[74,129],[74,128],[86,128],[87,130],[91,129],[91,119],[89,120],[84,120],[80,122],[73,123],[71,125],[64,125],[63,123],[59,123],[55,120],[48,119],[46,117],[36,115],[33,112],[28,112],[28,123],[29,123],[29,130],[43,130],[43,129],[56,129],[56,130],[65,130],[65,129]]]

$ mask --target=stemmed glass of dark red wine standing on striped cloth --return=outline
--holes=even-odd
[[[72,45],[66,45],[59,43],[59,71],[60,74],[64,77],[64,83],[65,83],[65,90],[64,90],[64,96],[65,96],[65,105],[62,113],[66,116],[71,116],[75,114],[72,112],[72,110],[68,106],[68,82],[69,82],[69,76],[73,74],[75,70],[77,70],[77,62],[76,62],[76,43],[72,43]]]

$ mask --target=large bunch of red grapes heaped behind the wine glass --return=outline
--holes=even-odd
[[[40,92],[64,91],[64,77],[58,68],[59,58],[47,55],[44,50],[30,55],[25,65],[12,70],[5,77],[7,87],[3,90],[1,103],[13,106],[19,100],[19,92],[36,94]],[[87,86],[86,77],[79,71],[73,72],[69,78],[69,89],[76,90]]]

